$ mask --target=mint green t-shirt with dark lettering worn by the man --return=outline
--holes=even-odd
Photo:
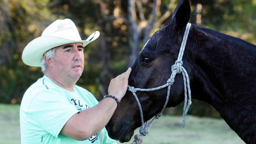
[[[20,105],[21,144],[116,144],[106,128],[78,141],[60,131],[71,116],[94,107],[98,101],[83,89],[65,90],[43,76],[25,92]]]

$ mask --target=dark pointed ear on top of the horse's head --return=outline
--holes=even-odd
[[[174,9],[173,17],[171,21],[172,29],[180,30],[186,27],[190,18],[190,4],[189,0],[179,0],[178,5]]]

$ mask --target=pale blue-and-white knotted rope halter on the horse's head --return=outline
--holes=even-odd
[[[134,95],[134,97],[138,103],[139,113],[141,116],[141,127],[139,129],[140,135],[135,135],[135,137],[134,137],[135,139],[132,142],[132,144],[141,144],[143,142],[142,138],[148,134],[148,129],[150,129],[150,127],[152,126],[154,121],[157,120],[162,115],[163,110],[165,109],[165,107],[169,101],[171,85],[173,85],[173,83],[174,83],[174,78],[175,78],[176,74],[180,74],[180,73],[182,73],[183,80],[184,80],[185,100],[184,100],[184,107],[183,107],[183,114],[182,114],[182,117],[183,117],[182,126],[185,127],[186,114],[187,114],[189,106],[191,105],[192,102],[191,102],[191,91],[190,91],[190,86],[189,86],[189,76],[187,74],[186,69],[182,66],[182,64],[183,64],[182,57],[183,57],[183,53],[184,53],[184,50],[186,47],[186,42],[187,42],[187,37],[189,34],[190,27],[191,27],[191,24],[187,23],[186,30],[184,32],[184,36],[182,39],[182,44],[180,46],[180,52],[178,55],[178,59],[177,59],[177,61],[175,61],[174,65],[171,66],[172,74],[165,85],[162,85],[162,86],[156,87],[156,88],[152,88],[152,89],[139,89],[139,88],[134,88],[134,87],[131,87],[130,85],[128,85],[128,90],[132,92],[132,94]],[[148,121],[147,121],[144,123],[141,103],[139,102],[139,98],[137,97],[136,92],[137,91],[154,91],[154,90],[163,89],[167,86],[168,86],[167,96],[166,96],[165,104],[163,105],[161,112],[156,114],[156,116],[151,120],[151,122],[148,123]],[[187,100],[187,97],[188,97],[188,100]]]

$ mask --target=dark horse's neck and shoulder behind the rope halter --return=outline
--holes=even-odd
[[[189,42],[192,97],[213,105],[245,142],[252,143],[256,141],[256,46],[204,32],[193,30]]]

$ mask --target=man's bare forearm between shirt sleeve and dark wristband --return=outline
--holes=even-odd
[[[76,140],[85,140],[106,126],[117,108],[113,98],[104,98],[95,107],[74,114],[61,133]]]

